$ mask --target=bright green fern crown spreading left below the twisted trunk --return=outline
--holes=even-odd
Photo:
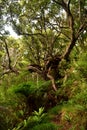
[[[19,84],[18,86],[13,87],[13,91],[15,93],[21,93],[25,96],[29,96],[29,94],[37,94],[38,96],[44,93],[48,89],[48,85],[50,84],[49,81],[44,82],[44,81],[38,81],[37,82],[24,82]],[[39,94],[38,94],[39,93]]]

